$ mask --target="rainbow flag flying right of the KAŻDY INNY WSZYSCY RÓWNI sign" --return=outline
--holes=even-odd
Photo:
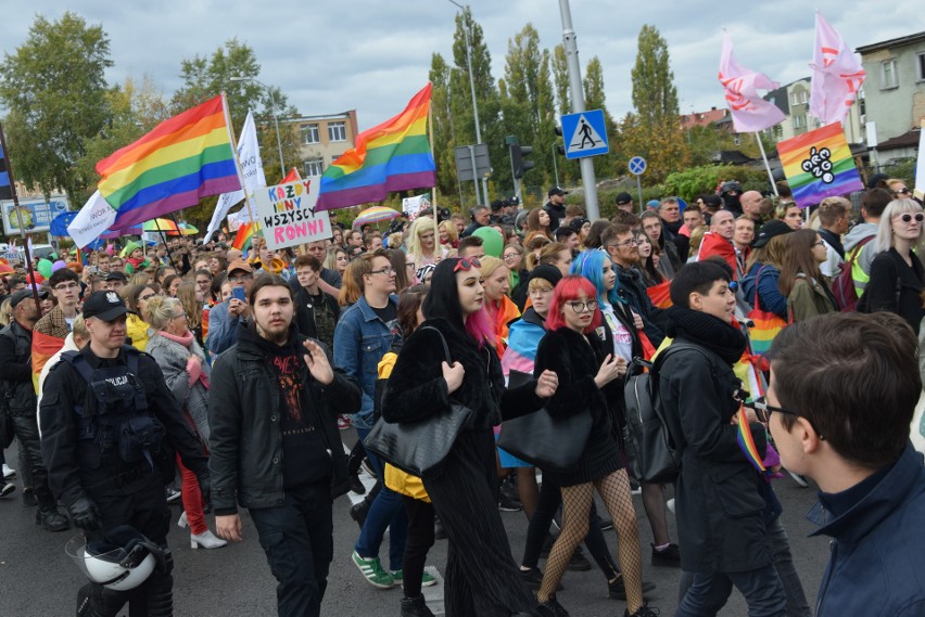
[[[356,136],[356,146],[321,176],[318,209],[381,202],[390,191],[433,187],[436,166],[427,139],[430,95],[428,83],[404,112]]]

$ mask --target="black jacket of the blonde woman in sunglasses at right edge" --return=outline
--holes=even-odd
[[[861,296],[858,310],[895,312],[904,319],[917,335],[925,316],[921,296],[923,284],[925,269],[922,268],[918,257],[912,254],[910,268],[896,248],[890,248],[874,257],[871,262],[871,280]]]

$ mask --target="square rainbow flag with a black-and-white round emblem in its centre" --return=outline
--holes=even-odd
[[[782,141],[777,154],[794,200],[801,208],[864,188],[841,123]]]

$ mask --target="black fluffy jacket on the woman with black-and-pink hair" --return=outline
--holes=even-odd
[[[502,419],[518,417],[543,407],[545,399],[535,395],[533,382],[505,389],[504,373],[493,345],[480,349],[465,330],[443,318],[434,318],[422,323],[402,346],[382,397],[385,422],[423,420],[451,408],[441,368],[446,358],[440,334],[426,325],[443,334],[451,358],[461,362],[466,370],[463,385],[452,398],[474,412],[471,429],[491,430]]]

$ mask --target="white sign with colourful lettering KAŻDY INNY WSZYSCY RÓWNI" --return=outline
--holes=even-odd
[[[321,177],[267,187],[254,194],[257,221],[267,246],[276,250],[331,237],[331,222],[325,210],[315,211]]]

